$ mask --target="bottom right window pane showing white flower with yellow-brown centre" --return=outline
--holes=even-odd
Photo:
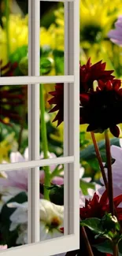
[[[64,236],[64,165],[40,167],[40,241]]]

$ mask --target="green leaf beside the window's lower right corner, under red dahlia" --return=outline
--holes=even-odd
[[[84,221],[80,221],[81,226],[90,228],[92,232],[96,234],[102,234],[102,226],[101,226],[101,220],[97,217],[91,217]]]

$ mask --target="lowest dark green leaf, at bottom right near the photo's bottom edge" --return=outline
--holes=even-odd
[[[110,240],[105,240],[103,243],[93,245],[98,251],[105,254],[113,254],[113,246]]]

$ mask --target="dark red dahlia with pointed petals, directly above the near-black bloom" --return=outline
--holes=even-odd
[[[91,58],[88,59],[86,65],[79,65],[80,72],[80,93],[87,92],[89,89],[93,89],[93,83],[95,80],[102,80],[106,83],[108,80],[113,80],[114,76],[111,74],[113,70],[105,70],[106,63],[98,61],[94,65],[91,65]]]

